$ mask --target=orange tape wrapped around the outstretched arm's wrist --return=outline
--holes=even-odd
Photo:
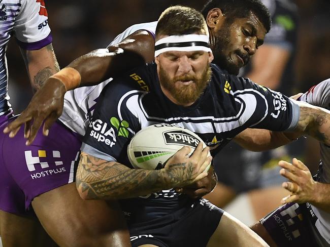
[[[80,73],[78,70],[71,67],[65,67],[49,78],[59,80],[64,85],[65,91],[76,89],[81,83]]]

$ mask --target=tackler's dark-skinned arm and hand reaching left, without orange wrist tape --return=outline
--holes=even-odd
[[[151,62],[153,59],[153,36],[141,30],[129,35],[117,45],[98,49],[77,58],[66,68],[74,68],[79,72],[81,77],[79,87],[84,87],[101,83],[105,79]],[[71,87],[70,90],[74,88]],[[52,123],[62,114],[66,91],[60,79],[56,76],[50,77],[32,97],[22,114],[8,125],[4,133],[10,133],[9,136],[14,137],[24,123],[24,137],[27,138],[26,145],[29,145],[44,122],[43,133],[47,136]]]

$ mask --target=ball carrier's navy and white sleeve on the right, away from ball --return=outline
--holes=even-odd
[[[296,127],[300,107],[285,95],[257,85],[248,78],[233,75],[228,75],[226,84],[230,88],[228,93],[234,95],[241,111],[242,127],[272,131],[286,131]]]

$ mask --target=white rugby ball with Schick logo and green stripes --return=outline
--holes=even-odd
[[[200,142],[205,148],[204,141],[192,131],[159,123],[139,131],[128,144],[127,155],[134,168],[158,170],[183,146],[191,147],[192,153]],[[211,163],[206,171],[210,166]]]

